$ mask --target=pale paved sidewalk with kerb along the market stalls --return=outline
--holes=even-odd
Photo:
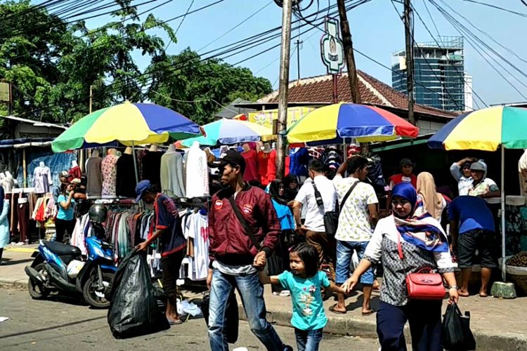
[[[9,246],[4,249],[0,265],[0,288],[27,289],[27,276],[24,267],[30,265],[31,254],[37,245]],[[237,294],[238,295],[238,294]],[[291,319],[291,298],[273,296],[271,287],[266,286],[265,300],[268,320],[282,326],[289,326]],[[238,298],[238,301],[240,299]],[[358,292],[346,300],[348,312],[334,314],[329,311],[333,299],[325,301],[325,309],[329,322],[324,331],[337,335],[358,336],[362,338],[377,338],[375,314],[363,317],[360,314],[362,293]],[[372,308],[379,305],[379,293],[372,296]],[[446,307],[446,300],[443,308]],[[497,298],[480,298],[470,296],[460,299],[460,309],[471,313],[471,330],[476,337],[478,350],[527,350],[527,297],[514,300]],[[426,311],[424,311],[426,313]],[[240,317],[245,319],[240,304]],[[408,325],[405,329],[407,341],[410,342]]]

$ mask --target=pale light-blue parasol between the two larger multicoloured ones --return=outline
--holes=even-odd
[[[248,121],[222,118],[203,126],[207,136],[183,140],[181,145],[190,147],[195,141],[201,145],[214,146],[245,143],[248,141],[270,140],[273,138],[271,128]]]

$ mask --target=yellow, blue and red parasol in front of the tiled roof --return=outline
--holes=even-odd
[[[340,143],[344,138],[358,142],[415,138],[419,128],[379,107],[340,102],[307,114],[287,131],[289,144]]]

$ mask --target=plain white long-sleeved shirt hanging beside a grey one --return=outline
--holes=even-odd
[[[209,167],[207,154],[197,145],[186,154],[186,192],[188,198],[209,194]]]

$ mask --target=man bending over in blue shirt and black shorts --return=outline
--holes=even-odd
[[[480,197],[461,196],[448,208],[450,220],[451,251],[457,249],[457,265],[461,268],[460,296],[469,296],[469,278],[476,249],[481,265],[479,296],[486,297],[492,269],[497,267],[494,218],[486,202]]]

